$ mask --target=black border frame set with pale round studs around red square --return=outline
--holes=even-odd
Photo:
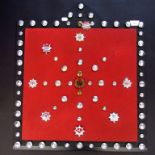
[[[80,10],[81,11],[81,10]],[[65,17],[66,18],[66,17]],[[71,22],[72,18],[68,18]],[[81,20],[81,19],[79,19]],[[78,20],[78,21],[79,21]],[[90,19],[89,19],[90,20]],[[48,20],[48,25],[47,26],[43,26],[42,25],[42,21],[43,20],[33,20],[36,22],[36,25],[32,26],[30,25],[30,23],[32,22],[32,20],[19,20],[18,21],[18,32],[22,31],[23,35],[19,35],[19,33],[17,34],[17,51],[18,50],[22,50],[24,52],[24,29],[25,28],[57,28],[59,26],[61,27],[72,27],[71,25],[67,25],[68,21],[61,21],[59,26],[55,26],[54,23],[55,21],[50,21]],[[77,21],[77,22],[78,22]],[[82,19],[83,21],[83,19]],[[107,21],[106,21],[107,22]],[[103,28],[131,28],[134,27],[137,29],[137,78],[138,78],[138,84],[137,84],[137,88],[138,88],[138,104],[137,106],[139,107],[139,103],[140,102],[144,102],[144,104],[146,103],[146,97],[145,97],[145,75],[140,76],[140,72],[143,72],[143,74],[145,73],[145,54],[144,55],[140,55],[139,54],[139,50],[143,50],[143,44],[140,45],[139,41],[143,41],[143,35],[139,35],[139,32],[142,32],[142,28],[144,26],[144,23],[142,21],[139,20],[129,20],[129,21],[125,21],[124,24],[120,24],[118,26],[115,26],[114,22],[109,23],[108,22],[108,26],[106,25],[105,27],[101,24],[101,27]],[[21,24],[23,23],[23,24]],[[101,21],[102,23],[102,21]],[[92,27],[98,27],[96,26],[96,24]],[[19,46],[18,41],[21,40],[23,41],[23,45]],[[144,42],[143,42],[144,43]],[[24,68],[22,67],[24,64],[24,57],[23,55],[19,56],[17,54],[17,67],[16,70],[17,71],[22,71]],[[18,64],[18,60],[22,61],[22,65]],[[143,61],[142,64],[140,64],[140,61]],[[18,86],[17,84],[17,80],[21,80],[23,79],[23,75],[17,75],[16,77],[16,96],[15,96],[15,103],[17,100],[21,101],[22,104],[22,94],[18,95],[17,91],[20,91],[21,93],[23,92],[23,88],[22,86]],[[139,83],[140,81],[144,82],[144,86],[141,86]],[[143,93],[143,95],[140,95],[141,93]],[[20,112],[22,112],[22,106],[17,107],[17,105],[15,104],[15,111],[19,110]],[[139,118],[139,114],[140,113],[144,113],[145,114],[145,119],[140,119]],[[140,123],[144,123],[146,126],[146,105],[145,108],[138,108],[138,128],[139,128],[139,124]],[[16,127],[14,124],[14,133],[16,133],[17,131],[21,133],[21,123],[22,123],[22,117],[15,117],[15,121],[19,121],[20,122],[20,126]],[[13,144],[13,149],[15,150],[97,150],[97,151],[131,151],[131,152],[136,152],[136,151],[146,151],[147,147],[146,147],[146,127],[144,129],[140,129],[138,130],[138,136],[140,136],[140,134],[144,134],[144,138],[138,138],[138,143],[132,143],[132,142],[103,142],[107,144],[107,148],[103,149],[101,147],[102,143],[101,142],[54,142],[54,144],[56,145],[56,147],[52,148],[51,147],[51,143],[52,141],[22,141],[20,137],[15,137],[14,139],[14,144]],[[32,143],[32,147],[28,147],[28,144]],[[68,143],[69,147],[65,147],[65,144]],[[42,144],[42,145],[40,145]],[[52,143],[53,144],[53,143]],[[90,145],[91,144],[91,145]],[[92,145],[93,144],[93,145]],[[132,149],[127,149],[126,145],[127,144],[131,144],[132,145]],[[43,146],[43,147],[41,147]],[[81,148],[78,148],[78,146],[81,146]],[[93,146],[92,148],[90,146]],[[142,147],[143,146],[143,147]]]

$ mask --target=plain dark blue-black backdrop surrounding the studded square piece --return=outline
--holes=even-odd
[[[79,2],[101,19],[144,21],[146,51],[146,96],[148,151],[144,153],[108,153],[83,151],[13,151],[13,109],[16,75],[16,21],[18,19],[60,19]],[[155,154],[155,1],[153,0],[1,0],[0,1],[0,155],[62,154]]]

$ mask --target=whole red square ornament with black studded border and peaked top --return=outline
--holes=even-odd
[[[13,148],[145,151],[144,23],[77,10],[18,21]]]

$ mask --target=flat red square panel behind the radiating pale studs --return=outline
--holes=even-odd
[[[76,33],[83,33],[85,40],[77,42]],[[27,28],[25,30],[24,49],[24,88],[23,88],[23,140],[55,140],[55,141],[137,141],[137,38],[136,29],[101,29],[92,28]],[[50,53],[42,52],[42,45],[52,46]],[[78,52],[78,47],[83,51]],[[57,56],[58,61],[53,61]],[[102,57],[107,57],[102,62]],[[78,66],[77,60],[83,59],[83,65]],[[92,65],[97,64],[99,70],[92,71]],[[67,72],[61,67],[68,66]],[[68,86],[70,80],[76,79],[77,71],[83,71],[87,84],[83,94],[77,95],[77,89]],[[128,77],[132,81],[130,88],[124,88],[123,80]],[[30,88],[28,83],[36,79],[36,88]],[[103,87],[98,86],[98,80],[103,79]],[[61,80],[61,87],[55,87],[55,80]],[[48,85],[43,86],[43,81]],[[117,86],[112,82],[117,81]],[[74,81],[73,81],[74,82]],[[68,101],[61,102],[66,95]],[[92,97],[99,97],[97,103]],[[77,109],[77,102],[83,102],[83,109]],[[52,106],[56,105],[57,110]],[[107,110],[103,111],[102,107]],[[41,113],[50,112],[51,119],[42,121]],[[119,115],[118,122],[111,122],[110,113]],[[82,121],[78,122],[78,116]],[[82,126],[84,135],[75,135],[76,126]]]

